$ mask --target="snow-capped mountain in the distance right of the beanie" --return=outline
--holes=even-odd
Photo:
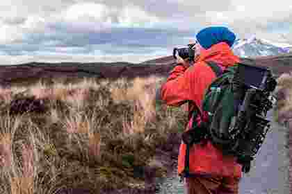
[[[292,51],[291,44],[271,42],[267,39],[258,39],[256,36],[237,39],[232,48],[234,53],[241,58],[279,55]]]

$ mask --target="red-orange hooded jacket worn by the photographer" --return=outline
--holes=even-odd
[[[239,59],[232,53],[228,44],[221,42],[203,50],[200,58],[192,67],[176,66],[161,87],[161,98],[167,105],[179,106],[186,103],[187,100],[191,100],[202,111],[204,92],[216,78],[216,74],[205,63],[206,61],[216,62],[222,69],[225,69],[234,65],[235,62],[239,62]],[[192,125],[191,120],[186,130]],[[181,142],[178,173],[184,170],[185,153],[186,145]],[[198,143],[190,148],[190,173],[241,177],[241,165],[236,163],[235,157],[223,156],[218,148],[207,141],[206,145]]]

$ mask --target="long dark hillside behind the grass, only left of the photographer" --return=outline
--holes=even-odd
[[[111,78],[120,77],[134,78],[150,75],[166,75],[173,64],[131,64],[127,62],[115,63],[40,63],[31,62],[18,65],[0,66],[0,85],[7,87],[11,84],[29,84],[38,82],[41,78],[47,82],[55,82],[58,78],[65,78],[67,81],[76,78]],[[58,81],[57,81],[58,82]]]

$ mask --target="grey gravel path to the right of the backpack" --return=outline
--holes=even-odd
[[[287,132],[285,127],[273,123],[254,167],[241,181],[240,193],[289,193]]]

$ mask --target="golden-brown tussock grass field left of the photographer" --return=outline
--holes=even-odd
[[[152,158],[184,130],[186,112],[155,102],[161,80],[0,88],[0,193],[99,193],[163,177]]]

